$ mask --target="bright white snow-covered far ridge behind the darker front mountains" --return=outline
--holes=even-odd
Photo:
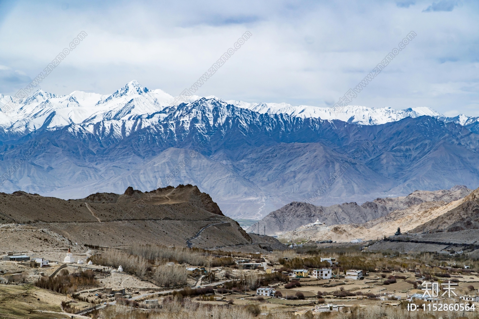
[[[192,96],[186,103],[201,99]],[[246,103],[224,101],[214,96],[206,97],[218,103],[228,103],[260,114],[288,114],[299,118],[341,120],[359,125],[380,125],[399,121],[406,117],[422,115],[440,118],[446,122],[468,125],[478,118],[459,115],[446,118],[428,108],[395,110],[390,107],[371,108],[348,105],[341,108],[323,108],[307,105],[293,106],[287,103]],[[8,136],[20,137],[38,129],[55,129],[71,124],[82,125],[93,132],[95,125],[103,123],[107,130],[113,129],[117,137],[128,135],[131,130],[141,129],[162,121],[175,112],[178,104],[175,98],[160,89],[150,91],[136,80],[110,95],[74,91],[68,95],[57,95],[42,90],[20,101],[13,101],[8,95],[0,94],[0,130]],[[168,112],[165,112],[168,108]],[[139,125],[139,126],[138,126]]]

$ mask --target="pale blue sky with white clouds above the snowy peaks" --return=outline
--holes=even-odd
[[[177,96],[250,31],[198,95],[331,106],[414,31],[350,104],[479,116],[479,1],[171,2],[0,0],[0,92],[85,31],[39,88],[108,94],[138,80]]]

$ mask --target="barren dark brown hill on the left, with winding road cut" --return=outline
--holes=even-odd
[[[1,193],[0,227],[7,229],[1,224],[27,224],[70,242],[97,246],[133,242],[187,246],[188,239],[190,246],[200,248],[252,243],[236,221],[224,216],[211,197],[193,185],[146,193],[129,187],[121,195],[97,193],[68,201],[24,192]]]

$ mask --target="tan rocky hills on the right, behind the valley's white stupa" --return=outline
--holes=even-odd
[[[326,223],[326,225],[307,225],[305,223],[291,230],[294,226],[283,226],[289,224],[288,217],[291,215],[289,213],[291,208],[287,205],[263,218],[260,225],[269,225],[269,229],[283,226],[283,231],[275,232],[281,234],[283,239],[333,240],[339,242],[388,237],[394,235],[398,227],[403,232],[402,238],[397,238],[401,241],[414,241],[424,236],[431,237],[430,235],[421,236],[421,234],[436,233],[435,236],[431,237],[435,238],[435,241],[447,242],[457,237],[460,242],[461,235],[456,236],[456,233],[479,229],[479,188],[472,191],[465,186],[455,186],[450,190],[435,192],[416,191],[405,197],[378,198],[374,202],[365,203],[355,210],[351,210],[350,204],[345,203],[344,205],[331,207],[314,206],[312,208],[309,205],[303,205],[309,209],[297,211],[298,219],[305,220],[309,217],[309,224],[312,217],[316,218],[318,216],[321,220],[321,214],[325,211],[329,211],[330,215],[353,215],[353,218],[344,218],[343,222],[337,222],[334,218],[325,218],[328,221],[332,219],[332,222]],[[300,207],[301,205],[297,206]],[[364,211],[367,210],[372,210],[380,216],[364,221]],[[363,214],[358,213],[358,211],[363,212]],[[356,218],[356,222],[354,222],[355,216],[359,217]],[[404,235],[404,232],[406,232],[406,235]],[[273,234],[274,231],[270,230],[269,233]],[[470,236],[476,236],[477,239],[477,231],[468,234],[469,239],[471,239]],[[455,240],[457,241],[457,239]],[[429,241],[434,240],[430,239]],[[429,241],[425,241],[425,243]]]

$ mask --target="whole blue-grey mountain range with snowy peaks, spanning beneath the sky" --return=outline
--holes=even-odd
[[[67,199],[195,184],[227,216],[261,218],[291,202],[362,203],[479,185],[478,118],[174,101],[136,81],[111,95],[0,95],[1,190]],[[383,216],[358,212],[356,222]]]

